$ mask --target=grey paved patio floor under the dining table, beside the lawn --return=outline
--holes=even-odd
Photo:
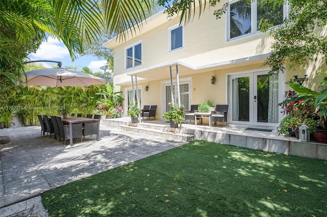
[[[107,125],[73,146],[41,135],[41,128],[0,129],[0,216],[48,216],[41,193],[185,144]],[[30,215],[28,215],[30,214]]]

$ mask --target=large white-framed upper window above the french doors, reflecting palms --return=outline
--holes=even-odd
[[[259,22],[268,19],[274,25],[283,23],[286,17],[286,5],[273,6],[254,0],[248,3],[246,0],[232,1],[228,7],[228,40],[240,38],[259,32]]]

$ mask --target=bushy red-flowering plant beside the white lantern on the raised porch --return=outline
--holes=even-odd
[[[295,92],[288,92],[286,100],[279,105],[283,108],[283,113],[286,114],[285,118],[278,124],[277,131],[279,134],[288,135],[289,129],[293,131],[305,123],[309,132],[316,131],[318,127],[318,115],[315,112],[311,101],[294,100]]]

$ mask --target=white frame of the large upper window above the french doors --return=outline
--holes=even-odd
[[[227,41],[233,41],[233,40],[237,40],[240,38],[245,38],[245,37],[249,37],[249,36],[253,36],[255,34],[259,34],[261,33],[260,30],[258,29],[257,23],[256,23],[256,17],[257,17],[257,10],[256,10],[256,5],[257,2],[260,0],[253,0],[251,1],[251,33],[248,33],[246,35],[241,35],[235,38],[230,38],[230,5],[236,2],[239,2],[241,0],[232,0],[229,2],[228,5],[228,9],[227,9],[227,13],[226,13],[226,39]],[[283,19],[285,19],[288,15],[288,10],[289,10],[289,5],[286,3],[284,4],[283,7]]]

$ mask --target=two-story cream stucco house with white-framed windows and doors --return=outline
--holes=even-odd
[[[141,32],[135,35],[130,30],[133,37],[129,33],[126,41],[114,38],[106,42],[104,46],[114,52],[113,82],[124,93],[124,107],[132,101],[133,80],[141,108],[158,106],[157,120],[169,108],[173,85],[174,101],[179,100],[185,109],[210,100],[214,105],[229,105],[228,124],[277,126],[283,118],[278,103],[290,89],[285,82],[294,75],[307,74],[314,79],[316,71],[311,72],[309,66],[268,75],[270,68],[262,64],[269,56],[272,39],[258,30],[265,11],[257,1],[242,10],[245,4],[244,0],[229,1],[227,13],[220,19],[213,15],[213,8],[205,9],[199,19],[196,15],[181,26],[179,17],[159,12],[143,23]],[[265,10],[271,13],[272,9]],[[276,25],[283,22],[287,10],[284,6],[273,11]]]

